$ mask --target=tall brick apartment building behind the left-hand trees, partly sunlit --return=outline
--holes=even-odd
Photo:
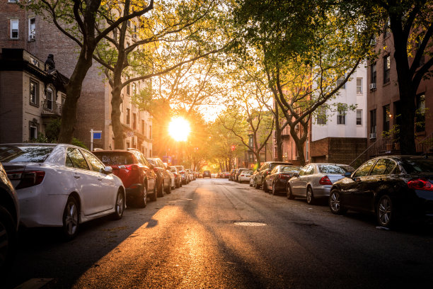
[[[40,60],[54,55],[56,69],[70,77],[78,57],[76,43],[63,35],[52,23],[44,21],[32,11],[21,9],[15,0],[0,1],[0,48],[20,48]],[[143,81],[130,84],[122,91],[121,120],[125,146],[152,155],[152,118],[139,111],[131,101],[133,92],[149,85]],[[74,137],[91,147],[91,129],[101,130],[102,138],[93,141],[93,147],[114,148],[111,129],[111,89],[97,63],[93,63],[83,81],[79,98]]]

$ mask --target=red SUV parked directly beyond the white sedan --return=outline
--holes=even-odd
[[[112,174],[122,180],[128,205],[134,203],[144,208],[148,195],[156,200],[156,174],[138,149],[97,150],[93,154],[105,166],[111,166]]]

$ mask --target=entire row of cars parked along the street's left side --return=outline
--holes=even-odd
[[[138,149],[97,150],[66,144],[0,145],[0,268],[10,268],[18,225],[60,227],[73,239],[83,222],[127,205],[146,207],[192,181],[183,166],[146,159]],[[183,177],[183,174],[185,177]]]

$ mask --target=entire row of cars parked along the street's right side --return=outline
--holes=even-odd
[[[233,180],[239,170],[232,172]],[[238,181],[246,174],[241,171]],[[428,157],[375,157],[356,170],[345,164],[267,162],[250,175],[249,185],[289,199],[305,198],[311,205],[323,198],[334,214],[367,212],[381,227],[433,217],[433,159]]]

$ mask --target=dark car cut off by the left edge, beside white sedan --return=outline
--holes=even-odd
[[[18,197],[0,164],[0,276],[12,268],[20,222]]]

